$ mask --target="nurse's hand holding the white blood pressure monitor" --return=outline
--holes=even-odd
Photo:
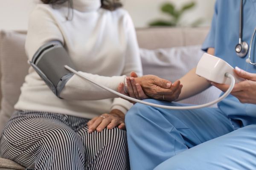
[[[256,104],[256,74],[248,73],[236,67],[235,73],[244,79],[245,81],[239,82],[233,88],[231,94],[239,99],[241,103]],[[227,91],[229,85],[213,83],[215,87],[221,89],[221,91]]]

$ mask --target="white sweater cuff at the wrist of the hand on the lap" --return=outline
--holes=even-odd
[[[132,106],[133,104],[125,99],[115,98],[113,100],[113,104],[111,105],[111,110],[118,109],[119,111],[122,111],[122,113],[126,114]]]

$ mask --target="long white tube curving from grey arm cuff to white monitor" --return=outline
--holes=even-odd
[[[130,101],[133,101],[133,102],[138,102],[138,103],[141,103],[141,104],[144,104],[144,105],[149,105],[149,106],[154,106],[154,107],[157,107],[157,108],[164,108],[164,109],[172,109],[172,110],[191,110],[191,109],[199,109],[199,108],[206,108],[206,107],[209,107],[211,105],[214,105],[218,102],[220,102],[221,100],[225,99],[230,93],[231,91],[233,90],[234,86],[235,86],[235,78],[229,74],[229,73],[226,73],[225,76],[230,78],[231,79],[231,83],[230,83],[230,87],[227,89],[227,91],[218,99],[212,101],[212,102],[209,102],[209,103],[206,103],[206,104],[203,104],[203,105],[194,105],[194,106],[166,106],[166,105],[158,105],[158,104],[154,104],[154,103],[150,103],[150,102],[145,102],[145,101],[142,101],[142,100],[139,100],[139,99],[134,99],[132,97],[129,97],[129,96],[125,96],[124,94],[120,94],[108,87],[105,87],[103,85],[100,85],[98,84],[97,82],[94,82],[92,79],[89,79],[87,77],[85,77],[84,75],[82,75],[81,73],[77,72],[76,70],[74,70],[73,68],[70,68],[69,66],[65,65],[65,68],[69,71],[71,71],[72,73],[78,75],[79,77],[105,89],[106,91],[109,91],[113,94],[116,94],[117,96],[119,97],[122,97],[123,99],[127,99],[127,100],[130,100]]]

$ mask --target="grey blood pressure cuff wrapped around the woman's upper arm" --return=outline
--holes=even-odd
[[[59,98],[67,81],[73,76],[73,73],[65,69],[64,65],[76,69],[59,41],[49,42],[39,48],[30,64]]]

